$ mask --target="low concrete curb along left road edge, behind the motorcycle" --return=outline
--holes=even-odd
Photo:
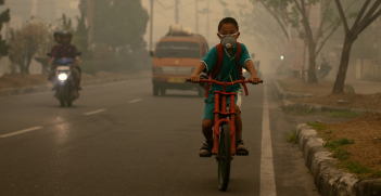
[[[110,83],[110,82],[129,80],[129,79],[135,79],[135,78],[149,78],[149,77],[151,77],[151,74],[136,74],[136,75],[125,76],[125,77],[82,81],[81,86],[82,87],[89,87],[89,86],[97,86],[97,84],[102,84],[102,83]],[[52,84],[34,86],[34,87],[25,87],[25,88],[1,89],[0,90],[0,96],[10,96],[10,95],[17,95],[17,94],[46,92],[46,91],[51,91],[51,88],[52,88]]]

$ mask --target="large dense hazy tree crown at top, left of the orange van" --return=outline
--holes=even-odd
[[[147,10],[137,0],[94,1],[93,41],[103,42],[114,51],[145,47],[142,37],[149,19]]]

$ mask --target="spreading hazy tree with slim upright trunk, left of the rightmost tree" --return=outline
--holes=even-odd
[[[319,0],[253,0],[261,2],[272,17],[277,19],[279,26],[285,34],[288,23],[299,31],[299,37],[304,40],[308,49],[308,82],[317,83],[316,57],[320,53],[326,41],[333,35],[340,26],[339,17],[333,15],[330,8],[331,0],[326,0],[321,4],[321,17],[316,31],[309,23],[310,8]],[[291,11],[288,8],[291,6]],[[290,37],[290,36],[289,36]]]

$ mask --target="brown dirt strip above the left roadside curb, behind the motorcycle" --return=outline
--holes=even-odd
[[[142,71],[144,73],[144,71]],[[106,73],[99,71],[96,75],[82,74],[82,81],[91,81],[99,79],[109,79],[109,78],[118,78],[136,75],[137,73]],[[23,74],[12,74],[4,75],[0,77],[0,89],[9,89],[9,88],[26,88],[26,87],[35,87],[35,86],[46,86],[51,84],[48,81],[48,75],[23,75]]]

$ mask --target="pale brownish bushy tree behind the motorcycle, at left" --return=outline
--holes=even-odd
[[[49,50],[50,37],[49,25],[43,23],[27,23],[20,30],[11,29],[9,57],[13,66],[18,66],[22,74],[29,74],[33,57]]]

